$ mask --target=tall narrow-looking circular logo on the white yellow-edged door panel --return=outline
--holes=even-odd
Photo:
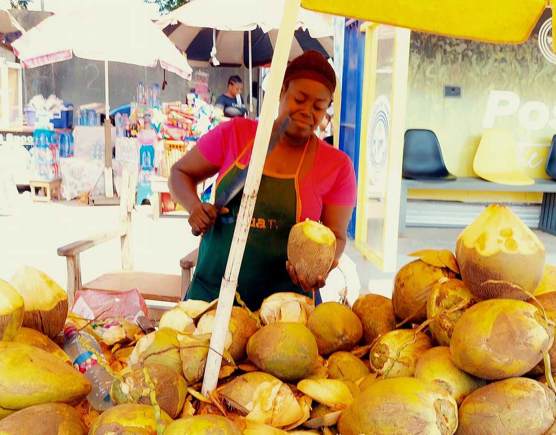
[[[367,131],[367,157],[371,182],[381,186],[386,181],[386,162],[390,144],[390,101],[384,95],[376,98]]]

